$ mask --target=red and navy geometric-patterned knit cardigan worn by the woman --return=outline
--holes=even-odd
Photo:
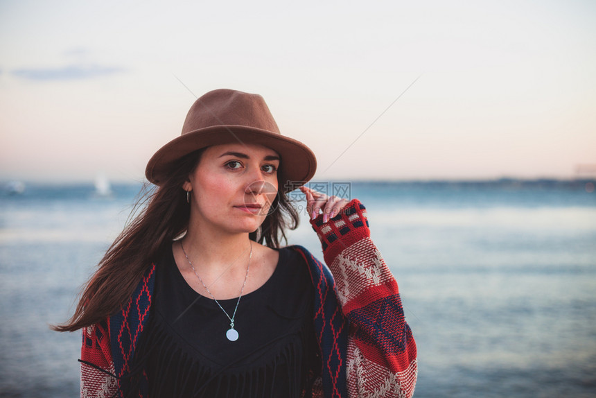
[[[312,396],[412,397],[416,345],[397,283],[370,240],[365,207],[352,200],[327,223],[322,216],[310,223],[328,268],[305,248],[292,248],[304,257],[315,286],[313,321],[322,370]],[[130,373],[143,372],[130,366],[150,311],[154,281],[152,264],[120,311],[83,331],[82,397],[119,397]],[[146,396],[141,377],[139,397]]]

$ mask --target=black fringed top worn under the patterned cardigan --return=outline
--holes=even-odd
[[[148,330],[131,369],[136,377],[123,381],[125,392],[136,390],[144,368],[150,397],[300,397],[320,369],[313,293],[301,255],[279,250],[270,279],[240,299],[239,338],[229,341],[225,313],[186,283],[167,250],[156,267]],[[230,316],[237,301],[218,300]]]

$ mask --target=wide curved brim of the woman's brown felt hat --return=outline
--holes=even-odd
[[[172,166],[195,150],[219,144],[258,144],[275,150],[281,157],[280,184],[288,192],[313,178],[317,158],[308,146],[276,132],[247,126],[211,126],[187,132],[157,150],[145,169],[147,180],[161,185]]]

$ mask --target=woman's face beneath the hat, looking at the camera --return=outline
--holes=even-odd
[[[277,196],[279,155],[252,144],[205,149],[183,188],[191,191],[191,225],[230,234],[255,231]]]

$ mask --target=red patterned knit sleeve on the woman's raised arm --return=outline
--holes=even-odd
[[[397,282],[370,239],[366,214],[355,199],[327,223],[322,216],[310,221],[350,322],[349,397],[412,397],[416,343],[405,322]]]

